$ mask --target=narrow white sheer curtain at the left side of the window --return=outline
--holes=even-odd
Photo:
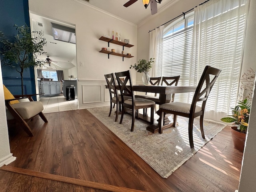
[[[150,31],[149,58],[155,58],[154,65],[151,70],[151,76],[156,77],[156,66],[162,66],[162,48],[163,48],[163,32],[164,26],[160,26]],[[159,56],[156,57],[158,52]]]

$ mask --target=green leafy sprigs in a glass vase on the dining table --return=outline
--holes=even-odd
[[[142,76],[142,81],[144,85],[149,84],[149,81],[150,81],[149,71],[153,67],[154,59],[155,58],[150,58],[149,61],[147,61],[146,59],[140,59],[138,61],[138,64],[135,63],[134,66],[132,65],[130,66],[130,69],[133,68],[139,73],[142,73],[142,72],[144,73],[144,75]]]

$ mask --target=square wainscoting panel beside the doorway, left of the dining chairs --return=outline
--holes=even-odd
[[[102,85],[82,85],[83,104],[102,102]]]

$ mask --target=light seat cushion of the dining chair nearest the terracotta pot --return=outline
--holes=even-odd
[[[159,108],[172,110],[176,112],[182,112],[189,114],[191,104],[182,102],[165,103],[159,106]],[[195,113],[202,111],[200,106],[196,106]]]

